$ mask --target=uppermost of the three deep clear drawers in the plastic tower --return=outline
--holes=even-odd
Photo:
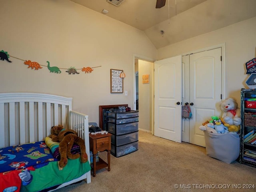
[[[108,122],[108,132],[117,135],[127,134],[138,131],[138,122],[115,125]]]

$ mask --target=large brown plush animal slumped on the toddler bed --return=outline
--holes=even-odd
[[[53,126],[51,129],[51,134],[49,136],[54,142],[60,142],[59,152],[60,152],[60,162],[59,166],[61,168],[65,167],[69,159],[81,158],[82,163],[88,160],[88,156],[85,151],[84,140],[78,137],[78,134],[71,129],[64,129],[62,125]],[[80,154],[71,154],[70,150],[73,144],[76,143],[80,146]],[[68,158],[67,158],[68,157]]]

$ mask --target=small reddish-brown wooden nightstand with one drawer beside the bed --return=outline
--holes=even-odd
[[[110,171],[110,150],[111,150],[111,135],[108,134],[96,134],[92,135],[89,134],[89,140],[90,140],[90,151],[92,151],[93,154],[93,163],[92,163],[92,169],[93,169],[93,175],[96,176],[96,170],[100,170],[104,167],[108,167],[108,171]],[[97,152],[108,152],[108,163],[106,163],[104,160],[102,160],[99,157],[99,161],[96,162],[96,154]]]

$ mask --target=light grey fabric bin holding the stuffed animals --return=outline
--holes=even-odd
[[[217,134],[204,131],[206,154],[228,164],[239,156],[240,137],[238,134]]]

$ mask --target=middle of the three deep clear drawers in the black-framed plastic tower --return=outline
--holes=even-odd
[[[120,135],[120,136],[112,135],[111,136],[111,143],[116,145],[116,146],[121,146],[121,145],[125,145],[125,144],[128,144],[128,143],[132,143],[132,142],[138,141],[138,134],[139,134],[139,132],[137,131],[137,132],[134,132],[134,133],[130,133],[130,134],[126,134],[126,135]]]

